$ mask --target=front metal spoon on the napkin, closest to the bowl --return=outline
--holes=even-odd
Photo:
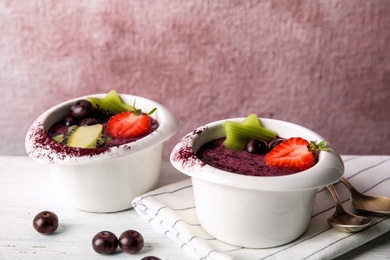
[[[335,203],[334,212],[332,216],[328,218],[329,224],[342,232],[358,232],[367,228],[371,224],[370,218],[357,216],[345,211],[333,185],[328,185],[326,187],[332,194]]]

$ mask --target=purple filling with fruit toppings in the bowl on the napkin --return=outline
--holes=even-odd
[[[251,176],[282,176],[307,170],[320,151],[330,151],[327,141],[283,138],[262,126],[255,114],[242,122],[226,121],[225,137],[203,144],[196,152],[203,163],[232,173]]]

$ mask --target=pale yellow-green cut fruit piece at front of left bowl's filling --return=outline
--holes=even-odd
[[[103,126],[101,124],[78,126],[70,133],[66,145],[78,148],[94,148],[101,139]]]

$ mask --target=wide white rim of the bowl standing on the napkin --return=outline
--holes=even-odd
[[[241,122],[244,119],[245,118],[224,119],[196,128],[194,131],[184,136],[173,148],[170,155],[172,165],[192,178],[199,178],[204,181],[243,189],[278,192],[317,189],[338,181],[344,174],[343,161],[334,149],[332,149],[331,152],[321,152],[319,161],[312,168],[284,176],[247,176],[234,174],[207,165],[196,157],[192,147],[202,133],[213,131],[215,128],[221,127],[222,123],[227,120]],[[324,140],[323,137],[312,130],[294,123],[270,118],[259,119],[265,126],[269,123],[284,124],[285,126],[306,131],[308,134],[315,136],[318,142]],[[185,160],[183,159],[183,153],[187,154]]]

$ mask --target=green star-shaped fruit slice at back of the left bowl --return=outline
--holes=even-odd
[[[112,114],[124,111],[134,111],[134,107],[124,103],[116,90],[110,90],[104,98],[88,97],[92,106],[97,110],[108,110]]]

